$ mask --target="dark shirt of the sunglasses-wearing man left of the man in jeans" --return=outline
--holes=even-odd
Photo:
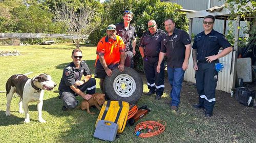
[[[145,56],[159,56],[161,40],[164,35],[165,32],[158,29],[154,34],[151,34],[149,31],[143,33],[142,37],[140,38],[139,47],[144,47]]]

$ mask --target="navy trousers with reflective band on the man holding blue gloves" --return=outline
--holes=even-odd
[[[199,94],[199,105],[206,109],[205,113],[212,113],[215,105],[215,89],[218,81],[218,72],[215,70],[217,62],[198,62],[196,71],[197,92]]]

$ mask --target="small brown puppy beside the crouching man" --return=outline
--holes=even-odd
[[[94,112],[90,112],[91,106],[96,106],[97,109],[101,110],[101,107],[105,102],[105,94],[102,93],[95,93],[92,95],[92,98],[90,100],[83,100],[81,104],[77,108],[81,108],[82,110],[86,110],[91,115],[94,115]]]

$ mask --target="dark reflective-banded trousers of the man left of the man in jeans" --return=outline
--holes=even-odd
[[[164,61],[161,63],[160,73],[157,72],[158,56],[151,58],[144,56],[144,72],[147,80],[147,88],[150,92],[162,96],[164,91]]]

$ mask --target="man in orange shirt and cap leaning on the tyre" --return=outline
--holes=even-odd
[[[105,76],[111,76],[112,70],[124,70],[125,45],[122,38],[116,35],[116,26],[110,24],[106,29],[106,36],[97,45],[97,59],[95,61],[95,77],[100,79],[100,89],[103,91]]]

